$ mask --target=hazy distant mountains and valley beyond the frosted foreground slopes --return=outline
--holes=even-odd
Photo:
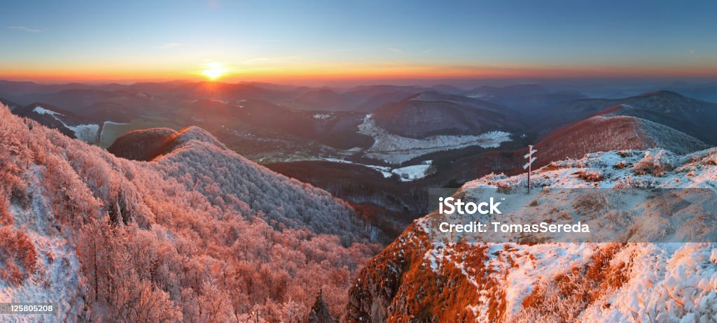
[[[0,85],[16,91],[5,100],[22,103],[12,103],[16,115],[104,148],[133,130],[202,127],[247,158],[359,203],[391,232],[427,211],[416,197],[426,188],[519,173],[526,145],[540,150],[540,167],[613,149],[690,153],[717,140],[716,104],[670,91],[601,99],[541,85]],[[338,168],[342,179],[328,178]]]

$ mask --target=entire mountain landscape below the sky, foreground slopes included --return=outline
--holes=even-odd
[[[437,244],[426,231],[440,219],[429,188],[520,191],[527,145],[541,190],[715,188],[712,102],[184,81],[3,81],[0,97],[0,301],[62,299],[70,321],[715,314],[707,246]],[[584,202],[548,200],[531,210]]]

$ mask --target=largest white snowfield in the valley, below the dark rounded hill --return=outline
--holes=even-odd
[[[424,139],[394,135],[376,125],[371,115],[366,115],[359,125],[359,133],[374,138],[374,145],[366,150],[367,158],[400,164],[413,158],[437,151],[452,150],[470,146],[497,148],[500,143],[511,140],[510,133],[503,131],[485,132],[482,135],[437,135]]]

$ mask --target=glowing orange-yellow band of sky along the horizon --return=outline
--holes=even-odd
[[[511,78],[666,78],[666,77],[717,77],[717,67],[528,67],[528,66],[322,66],[303,65],[288,67],[232,67],[223,65],[225,71],[217,77],[221,82],[351,82],[390,79],[511,79]],[[206,67],[152,69],[113,67],[62,67],[49,70],[8,69],[0,70],[0,79],[32,82],[132,82],[166,81],[186,79],[192,81],[212,80],[206,76]]]

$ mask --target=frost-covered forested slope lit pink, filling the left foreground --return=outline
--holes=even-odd
[[[68,322],[295,321],[319,289],[345,308],[376,248],[350,206],[199,128],[172,143],[126,160],[0,107],[0,302]]]

